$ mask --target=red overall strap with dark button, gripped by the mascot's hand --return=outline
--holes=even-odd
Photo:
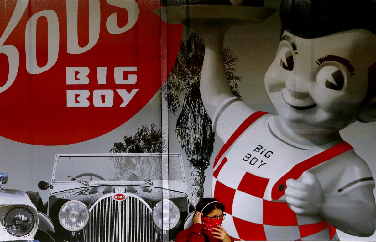
[[[303,172],[311,169],[321,163],[324,163],[327,160],[330,160],[337,155],[340,155],[346,151],[353,149],[351,145],[347,142],[341,142],[338,145],[333,146],[332,148],[327,149],[317,155],[308,158],[305,161],[296,164],[289,172],[287,172],[283,177],[281,177],[276,184],[274,184],[271,190],[271,199],[278,200],[285,194],[286,181],[290,178],[298,179]]]

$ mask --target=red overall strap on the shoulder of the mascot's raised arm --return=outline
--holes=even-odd
[[[267,112],[260,112],[259,111],[259,112],[251,114],[249,117],[247,117],[246,120],[244,120],[244,122],[231,135],[230,139],[227,140],[227,142],[222,146],[222,148],[219,151],[217,157],[215,157],[213,168],[215,167],[215,165],[217,165],[219,159],[222,157],[222,155],[224,154],[224,152],[226,152],[227,149],[230,148],[230,146],[235,142],[235,140],[237,140],[239,138],[239,136],[241,134],[243,134],[243,132],[246,131],[246,129],[249,126],[252,125],[253,122],[255,122],[256,120],[258,120],[261,116],[263,116],[265,114],[268,114],[268,113]]]

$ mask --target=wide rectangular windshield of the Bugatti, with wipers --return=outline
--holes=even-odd
[[[168,159],[163,167],[162,158]],[[58,156],[55,169],[53,181],[74,182],[74,178],[83,181],[183,180],[179,156],[64,155]]]

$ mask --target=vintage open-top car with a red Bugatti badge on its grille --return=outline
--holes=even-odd
[[[58,154],[38,187],[57,242],[170,241],[193,209],[180,154]]]

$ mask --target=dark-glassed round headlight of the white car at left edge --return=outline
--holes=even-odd
[[[33,214],[23,207],[11,209],[4,218],[5,229],[13,236],[24,236],[34,228]]]

